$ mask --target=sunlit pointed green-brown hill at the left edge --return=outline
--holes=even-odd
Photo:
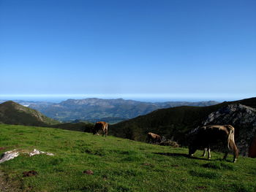
[[[26,126],[48,126],[59,123],[50,119],[37,110],[24,107],[13,101],[0,104],[0,123],[26,125]]]

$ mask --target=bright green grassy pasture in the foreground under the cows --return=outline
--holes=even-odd
[[[256,158],[149,145],[57,128],[0,125],[0,153],[33,150],[0,164],[6,191],[256,191]],[[34,170],[36,175],[24,177]],[[89,171],[91,170],[91,171]],[[87,171],[87,172],[86,172]]]

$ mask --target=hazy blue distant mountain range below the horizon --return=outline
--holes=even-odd
[[[0,101],[1,102],[1,101]],[[37,102],[37,101],[16,101],[26,105],[42,114],[62,122],[73,120],[99,120],[108,123],[117,123],[122,120],[135,118],[139,115],[146,115],[154,110],[177,107],[197,106],[204,107],[218,104],[217,101],[168,101],[168,102],[143,102],[124,99],[68,99],[60,103]]]

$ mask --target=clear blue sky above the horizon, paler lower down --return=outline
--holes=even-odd
[[[0,96],[42,94],[256,96],[256,1],[0,0]]]

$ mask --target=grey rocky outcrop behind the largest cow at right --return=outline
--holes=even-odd
[[[229,104],[208,115],[202,122],[208,125],[231,125],[235,128],[235,140],[240,155],[254,157],[256,148],[256,110],[242,104]],[[250,150],[249,150],[250,148]],[[256,156],[255,156],[256,157]]]

